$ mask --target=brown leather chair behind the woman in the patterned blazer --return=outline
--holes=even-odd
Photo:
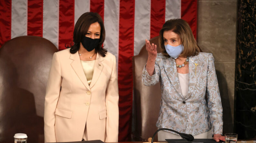
[[[157,45],[157,53],[160,52],[158,36],[149,40],[150,44]],[[157,130],[161,89],[160,84],[145,86],[141,81],[142,70],[147,63],[146,45],[142,47],[139,54],[133,57],[133,81],[135,102],[135,140],[147,140]],[[157,140],[157,136],[155,136]]]

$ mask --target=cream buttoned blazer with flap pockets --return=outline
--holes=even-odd
[[[118,141],[119,108],[116,58],[97,53],[93,77],[87,83],[78,52],[55,52],[44,104],[44,141]]]

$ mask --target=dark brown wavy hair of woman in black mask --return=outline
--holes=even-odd
[[[100,42],[95,48],[95,53],[99,53],[102,57],[106,56],[107,49],[104,49],[104,46],[102,46],[106,35],[103,20],[100,15],[95,12],[85,12],[77,20],[73,33],[74,43],[70,44],[70,46],[66,46],[66,48],[70,48],[71,54],[79,50],[82,37],[86,35],[90,25],[95,22],[100,24]]]

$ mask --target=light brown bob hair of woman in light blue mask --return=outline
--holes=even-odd
[[[180,54],[181,57],[195,56],[200,52],[200,48],[195,41],[192,30],[188,23],[182,19],[171,19],[165,22],[163,28],[159,32],[159,44],[163,55],[170,57],[165,49],[164,31],[173,31],[180,36],[181,44],[184,46],[184,51]]]

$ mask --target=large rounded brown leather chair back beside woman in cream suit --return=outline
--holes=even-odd
[[[0,49],[0,142],[13,143],[15,133],[43,143],[44,96],[52,55],[49,40],[20,36]]]

